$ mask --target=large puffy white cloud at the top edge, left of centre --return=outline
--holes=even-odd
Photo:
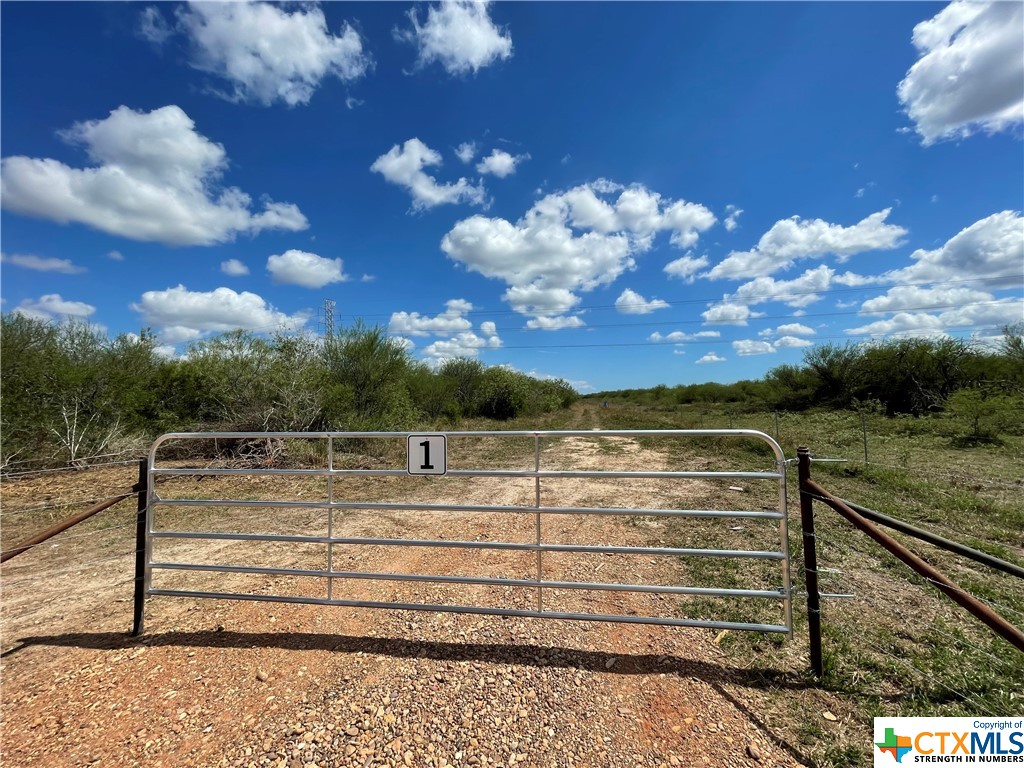
[[[142,23],[151,39],[165,34],[153,10]],[[230,90],[219,95],[233,101],[305,104],[325,78],[357,80],[371,66],[359,34],[344,24],[332,35],[315,5],[289,11],[275,3],[195,2],[177,20],[191,66],[227,81]]]

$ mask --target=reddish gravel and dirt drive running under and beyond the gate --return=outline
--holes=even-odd
[[[658,469],[668,459],[631,439],[566,439],[546,447],[545,465]],[[105,470],[117,487],[129,469]],[[120,474],[118,474],[120,472]],[[82,477],[83,475],[78,475]],[[444,478],[447,480],[449,478]],[[452,478],[455,480],[456,478]],[[49,480],[51,482],[52,480]],[[220,498],[233,478],[206,478]],[[36,483],[33,485],[32,483]],[[42,480],[7,483],[4,506],[28,506]],[[562,506],[657,507],[707,493],[665,480],[563,480],[545,494]],[[181,484],[181,488],[186,488]],[[82,493],[85,493],[84,488]],[[236,498],[245,498],[245,493]],[[531,480],[435,482],[433,503],[534,503]],[[675,495],[675,496],[673,496]],[[545,503],[552,500],[545,499]],[[128,505],[125,505],[128,506]],[[794,765],[799,753],[759,715],[768,676],[738,670],[708,630],[488,617],[238,601],[154,598],[146,635],[130,625],[131,511],[126,528],[26,554],[3,571],[2,760],[5,766],[677,766]],[[5,517],[4,522],[11,518]],[[289,524],[298,524],[294,518]],[[308,522],[309,515],[302,518]],[[350,514],[336,536],[464,541],[532,541],[522,513]],[[242,524],[242,520],[236,520]],[[256,524],[249,519],[245,524]],[[440,531],[440,532],[439,532]],[[548,542],[670,545],[656,521],[549,516]],[[9,546],[4,534],[4,546]],[[90,544],[89,546],[93,546]],[[76,549],[76,547],[79,547]],[[176,543],[165,556],[217,562],[236,553]],[[322,550],[323,548],[321,548]],[[242,550],[239,550],[241,553]],[[46,568],[88,554],[86,570],[47,578]],[[322,551],[248,546],[278,566],[324,567]],[[678,565],[637,556],[549,553],[545,579],[678,583]],[[102,557],[109,559],[100,560]],[[534,553],[336,546],[335,569],[529,579]],[[204,561],[204,560],[200,560]],[[263,564],[262,562],[259,564]],[[191,581],[185,581],[190,579]],[[248,581],[247,581],[248,580]],[[280,591],[280,580],[170,573],[165,584]],[[161,585],[164,586],[164,585]],[[294,580],[292,594],[321,582]],[[536,606],[531,588],[432,586],[335,580],[334,597],[404,602]],[[672,615],[663,596],[549,590],[556,610]],[[752,664],[752,667],[754,665]],[[800,686],[774,675],[773,686]]]

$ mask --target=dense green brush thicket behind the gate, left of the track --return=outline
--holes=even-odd
[[[386,329],[361,323],[324,340],[229,331],[181,359],[158,355],[150,332],[112,341],[82,322],[15,313],[0,317],[0,467],[140,453],[163,432],[404,431],[424,420],[546,413],[579,397],[564,381],[476,359],[433,371]]]

